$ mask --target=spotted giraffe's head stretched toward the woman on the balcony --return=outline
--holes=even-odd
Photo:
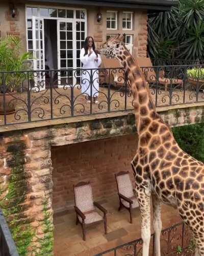
[[[124,36],[125,34],[117,34],[116,36],[108,39],[99,46],[100,53],[107,57],[114,57],[121,60],[120,55],[123,51],[127,50],[123,42]]]

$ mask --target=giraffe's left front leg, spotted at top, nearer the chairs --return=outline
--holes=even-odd
[[[147,190],[147,189],[146,189]],[[136,193],[138,198],[138,203],[141,212],[141,228],[142,228],[142,240],[143,240],[143,256],[149,255],[149,242],[151,238],[151,230],[150,230],[150,192],[146,191],[144,188],[137,189]]]

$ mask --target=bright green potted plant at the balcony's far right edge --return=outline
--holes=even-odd
[[[193,87],[199,88],[199,90],[204,90],[204,68],[194,68],[187,70],[188,81]]]

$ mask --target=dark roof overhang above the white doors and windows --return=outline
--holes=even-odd
[[[145,9],[152,11],[169,11],[179,4],[178,0],[27,0],[25,2],[59,3],[79,6],[116,7],[125,9]]]

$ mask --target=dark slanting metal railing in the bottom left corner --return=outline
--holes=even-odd
[[[0,209],[0,256],[18,256],[11,232]]]

